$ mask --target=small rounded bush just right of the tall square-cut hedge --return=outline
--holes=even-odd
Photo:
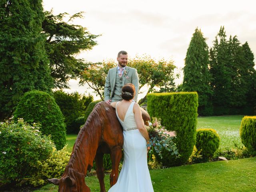
[[[220,146],[220,136],[214,129],[196,130],[196,149],[204,160],[209,160]]]

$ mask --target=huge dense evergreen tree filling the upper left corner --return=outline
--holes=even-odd
[[[51,91],[43,20],[42,0],[0,2],[0,120],[25,92]]]

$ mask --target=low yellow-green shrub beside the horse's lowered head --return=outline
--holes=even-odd
[[[70,152],[66,146],[62,150],[53,150],[52,154],[44,160],[37,162],[37,170],[31,176],[29,183],[33,186],[41,186],[48,183],[47,179],[60,178],[70,159]]]

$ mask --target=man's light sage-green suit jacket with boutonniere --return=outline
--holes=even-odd
[[[108,75],[106,78],[105,86],[104,86],[104,100],[112,99],[115,85],[116,85],[116,73],[117,73],[117,66],[108,70]],[[137,102],[138,98],[138,91],[139,91],[139,77],[138,72],[135,68],[126,66],[126,69],[123,73],[123,82],[122,86],[127,83],[132,83],[135,86],[136,94],[134,96],[134,100]],[[121,90],[120,90],[121,92]]]

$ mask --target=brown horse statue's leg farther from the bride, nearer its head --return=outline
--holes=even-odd
[[[106,192],[105,184],[104,184],[104,167],[103,167],[103,153],[98,150],[95,156],[95,162],[97,166],[97,177],[100,182],[100,192]]]

